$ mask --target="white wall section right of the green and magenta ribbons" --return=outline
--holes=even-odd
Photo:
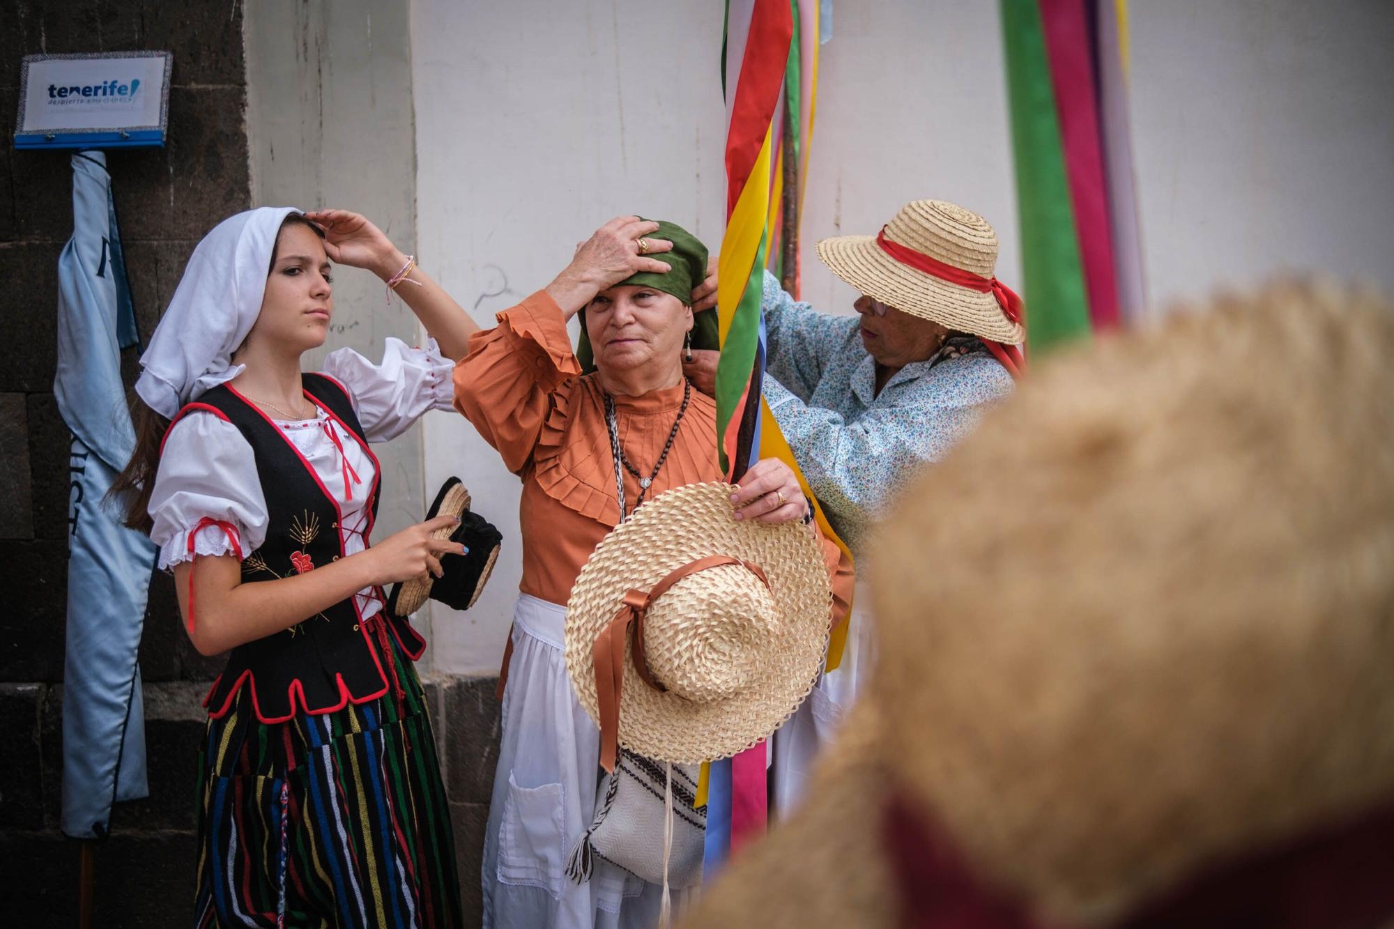
[[[1278,269],[1394,292],[1394,3],[1129,8],[1151,303]]]

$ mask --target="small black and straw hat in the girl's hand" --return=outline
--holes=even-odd
[[[480,600],[484,584],[493,573],[499,558],[502,536],[488,520],[470,512],[470,491],[459,477],[450,477],[436,492],[427,509],[427,522],[436,516],[456,516],[459,526],[446,526],[431,533],[432,538],[450,538],[463,544],[464,555],[442,555],[443,577],[428,573],[411,577],[392,589],[388,597],[388,612],[395,617],[410,617],[420,610],[427,598],[435,597],[453,610],[468,610]]]

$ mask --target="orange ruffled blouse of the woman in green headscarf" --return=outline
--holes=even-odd
[[[597,375],[581,375],[560,307],[546,292],[498,314],[498,326],[474,333],[454,368],[454,406],[523,478],[520,590],[565,605],[577,575],[619,523],[615,460]],[[648,474],[664,451],[683,385],[644,396],[615,396],[625,456]],[[627,470],[625,499],[633,506],[638,480]],[[691,392],[673,446],[644,499],[698,481],[722,478],[717,464],[717,403]],[[834,619],[852,591],[852,572],[822,540],[832,573]]]

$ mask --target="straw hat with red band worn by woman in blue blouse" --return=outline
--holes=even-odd
[[[887,223],[887,240],[991,279],[997,268],[997,233],[986,219],[941,199],[916,199]],[[902,264],[875,236],[836,236],[817,246],[832,273],[868,297],[913,317],[1005,345],[1020,345],[1026,329],[1008,319],[997,297],[949,283]]]

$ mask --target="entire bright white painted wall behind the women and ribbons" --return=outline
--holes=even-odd
[[[723,226],[721,3],[413,0],[422,264],[481,322],[544,286],[622,212],[715,251]],[[1277,268],[1394,290],[1394,4],[1167,0],[1132,10],[1132,123],[1153,303]],[[822,49],[804,297],[850,310],[813,252],[907,199],[983,213],[1020,282],[1001,27],[990,0],[838,0]],[[1029,299],[1029,294],[1027,294]],[[427,487],[459,474],[503,530],[468,614],[435,607],[439,670],[498,665],[519,579],[517,480],[460,417],[432,414]]]

